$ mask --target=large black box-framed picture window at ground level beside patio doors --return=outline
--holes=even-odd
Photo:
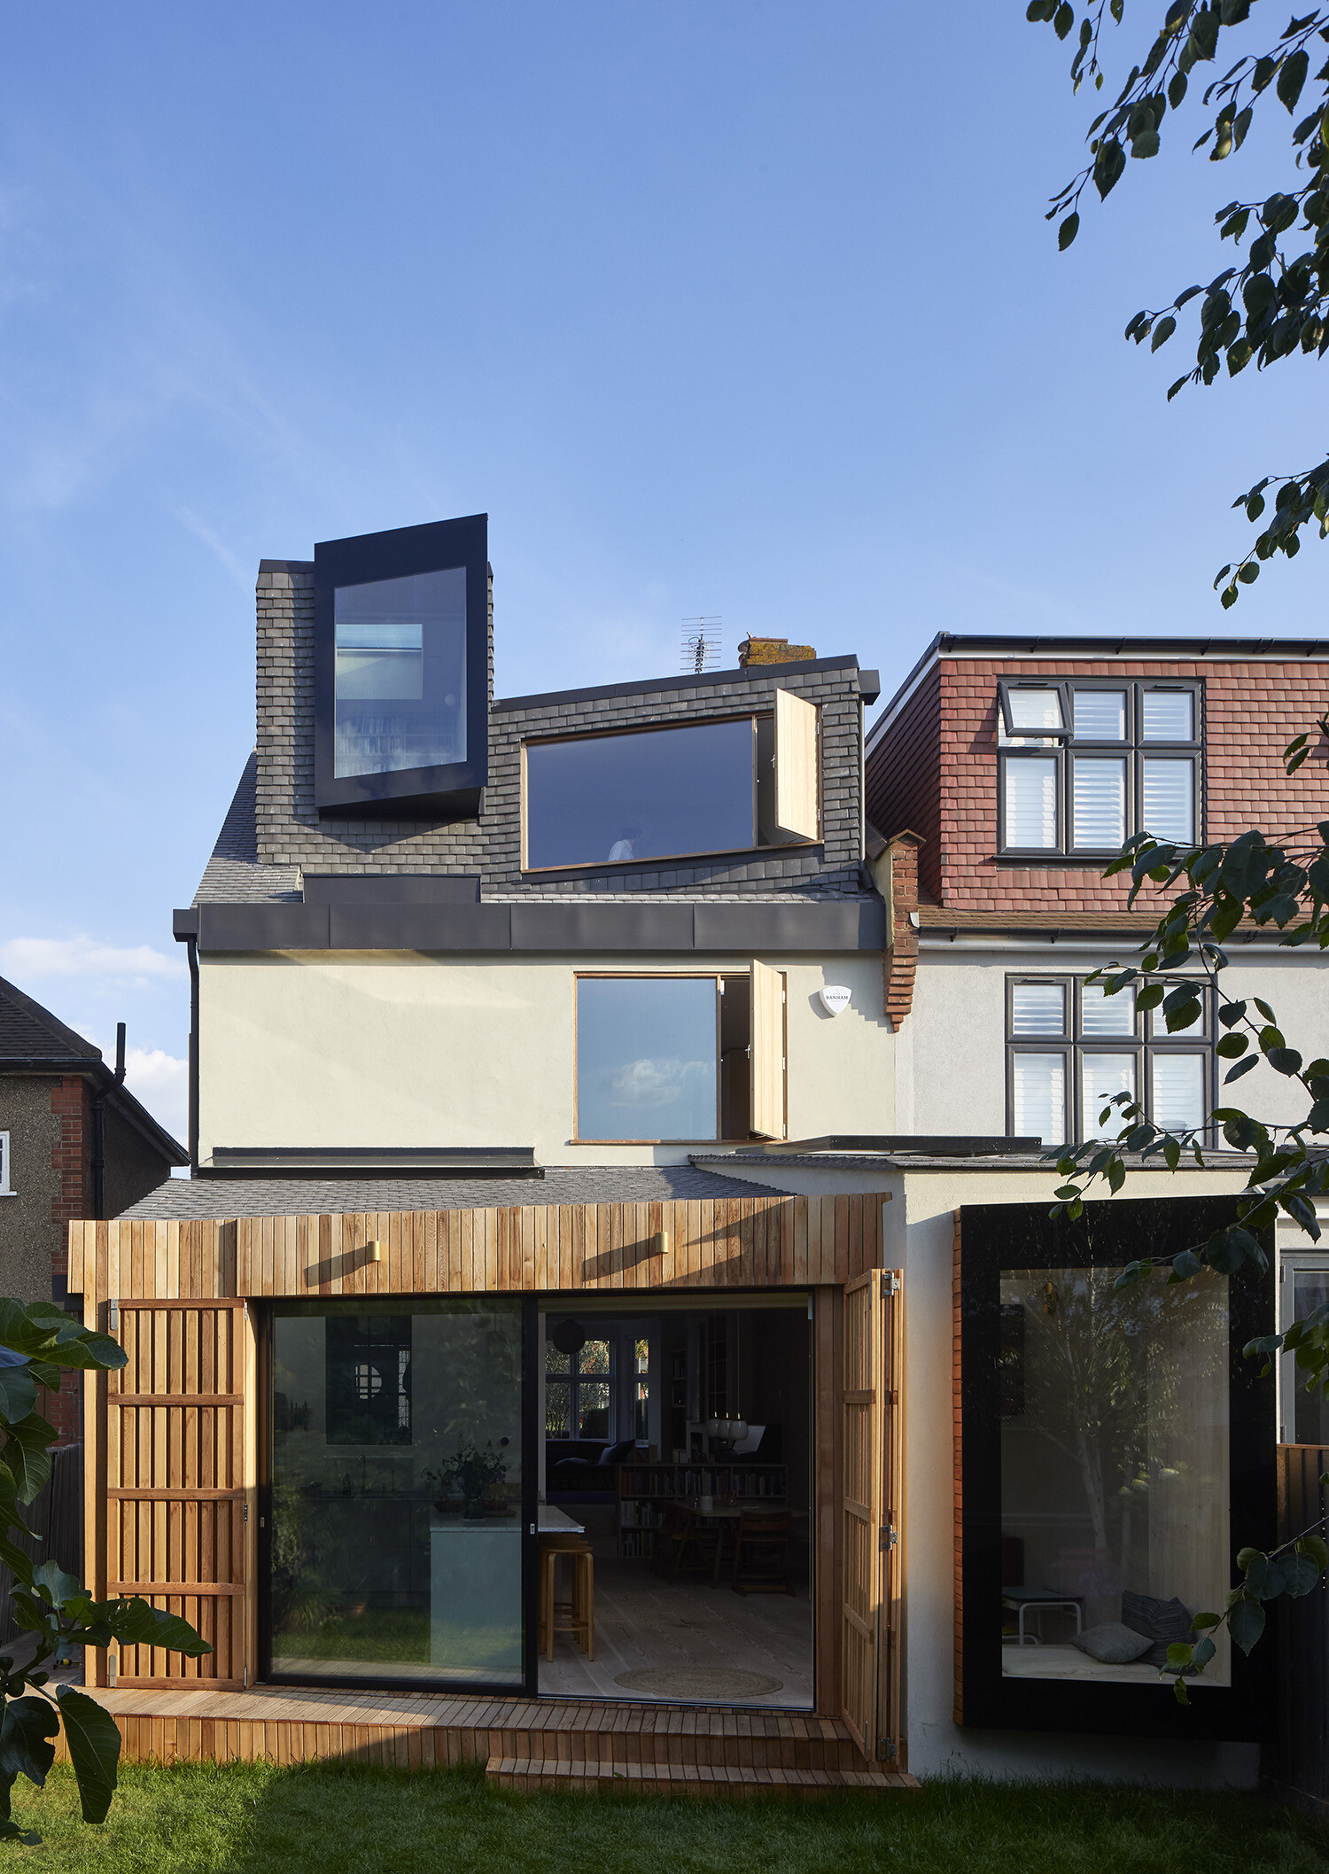
[[[1243,1346],[1273,1280],[1172,1257],[1228,1197],[960,1211],[962,1722],[1258,1737],[1269,1651],[1220,1636],[1179,1707],[1168,1645],[1273,1540],[1275,1392]],[[1267,1244],[1271,1250],[1271,1244]],[[1117,1287],[1128,1261],[1155,1272]]]

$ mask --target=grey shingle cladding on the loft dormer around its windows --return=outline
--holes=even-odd
[[[489,785],[478,821],[452,826],[379,821],[321,821],[313,800],[313,568],[264,562],[259,573],[257,845],[261,866],[311,871],[478,873],[485,898],[510,894],[624,894],[789,890],[860,896],[859,750],[862,703],[857,671],[772,669],[769,682],[714,682],[626,697],[594,697],[489,718]],[[493,613],[491,613],[493,647]],[[493,654],[491,654],[493,669]],[[769,847],[761,860],[690,860],[650,871],[577,871],[575,877],[521,875],[521,738],[577,729],[705,720],[735,710],[774,708],[776,688],[821,706],[823,849]]]

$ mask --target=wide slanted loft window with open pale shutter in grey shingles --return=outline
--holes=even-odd
[[[817,708],[525,742],[521,864],[620,866],[821,838]]]

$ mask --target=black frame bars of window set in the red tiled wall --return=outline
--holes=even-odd
[[[1061,729],[1016,729],[1012,721],[1010,697],[1020,690],[1055,690],[1061,699]],[[1125,692],[1125,735],[1119,742],[1104,742],[1089,736],[1076,738],[1074,733],[1074,692],[1104,690]],[[1145,742],[1143,740],[1143,695],[1145,692],[1185,692],[1190,695],[1188,742]],[[1142,825],[1143,817],[1143,763],[1149,757],[1192,761],[1192,830],[1196,843],[1203,843],[1203,680],[1170,677],[1018,677],[1003,678],[997,684],[997,855],[1018,858],[1022,864],[1095,864],[1115,858],[1119,847],[1089,847],[1074,843],[1074,802],[1072,770],[1078,755],[1106,759],[1119,755],[1127,763],[1125,789],[1125,838],[1128,840]],[[1053,761],[1055,763],[1055,845],[1007,845],[1007,766],[1010,761]]]

